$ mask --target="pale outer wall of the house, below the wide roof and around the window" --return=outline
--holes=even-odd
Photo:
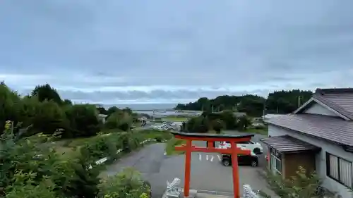
[[[318,140],[314,137],[309,137],[307,135],[301,135],[298,132],[294,132],[293,130],[287,130],[285,128],[280,128],[275,125],[268,126],[268,135],[270,136],[280,136],[280,135],[289,135],[294,138],[297,138],[301,141],[308,142],[309,144],[316,145],[317,147],[321,147],[321,151],[316,154],[316,172],[323,180],[323,187],[326,187],[328,190],[333,192],[338,192],[344,198],[352,198],[353,193],[349,192],[347,187],[340,184],[339,182],[329,178],[326,175],[326,152],[330,154],[334,154],[336,156],[340,156],[343,159],[347,159],[349,161],[353,161],[353,154],[346,152],[342,147],[337,144],[332,144],[330,142],[324,140]]]

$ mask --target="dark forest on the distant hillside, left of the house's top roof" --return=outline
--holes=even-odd
[[[176,110],[245,112],[249,116],[262,116],[263,113],[291,113],[299,105],[311,98],[313,92],[293,89],[281,90],[268,94],[267,98],[246,94],[243,96],[219,96],[215,99],[202,97],[189,104],[177,104]]]

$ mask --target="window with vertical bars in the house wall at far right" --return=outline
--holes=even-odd
[[[326,172],[328,177],[347,187],[353,187],[353,166],[351,161],[326,153]]]

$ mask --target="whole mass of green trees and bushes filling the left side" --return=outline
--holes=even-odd
[[[105,123],[100,113],[107,115]],[[131,109],[73,104],[48,84],[21,96],[1,82],[0,197],[150,198],[150,185],[138,172],[128,168],[102,180],[102,165],[95,164],[143,147],[143,140],[172,136],[134,132],[136,121]]]

